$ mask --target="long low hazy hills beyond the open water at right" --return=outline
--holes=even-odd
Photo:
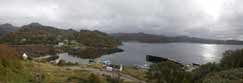
[[[122,41],[137,41],[144,43],[173,43],[173,42],[187,42],[187,43],[206,43],[206,44],[243,44],[243,41],[238,40],[215,40],[204,39],[188,36],[164,36],[146,33],[113,33],[113,37]]]

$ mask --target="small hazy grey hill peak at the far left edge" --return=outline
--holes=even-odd
[[[0,37],[5,34],[8,34],[10,32],[14,32],[16,30],[18,30],[18,28],[11,24],[1,24],[0,25]]]

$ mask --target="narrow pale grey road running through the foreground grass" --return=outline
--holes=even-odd
[[[64,68],[68,69],[68,70],[86,70],[86,71],[90,71],[96,75],[107,75],[107,76],[117,76],[118,75],[118,72],[110,72],[110,71],[100,70],[100,69],[95,69],[95,68],[90,68],[90,67],[68,66],[68,67],[64,67]],[[143,80],[139,80],[135,77],[132,77],[130,75],[123,74],[123,73],[120,73],[120,78],[123,79],[124,81],[146,83]]]

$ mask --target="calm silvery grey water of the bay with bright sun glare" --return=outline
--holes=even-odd
[[[148,44],[138,42],[124,42],[119,48],[124,52],[102,56],[114,64],[143,65],[146,63],[146,55],[154,55],[170,58],[183,64],[207,62],[218,62],[222,53],[226,50],[243,48],[243,45],[216,45],[216,44],[195,44],[195,43],[167,43]],[[70,58],[68,54],[62,54],[63,59],[69,61],[83,62],[87,60]],[[82,61],[79,61],[82,60]]]

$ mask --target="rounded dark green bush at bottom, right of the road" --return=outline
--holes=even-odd
[[[170,61],[151,65],[147,72],[149,83],[189,83],[191,75]]]

